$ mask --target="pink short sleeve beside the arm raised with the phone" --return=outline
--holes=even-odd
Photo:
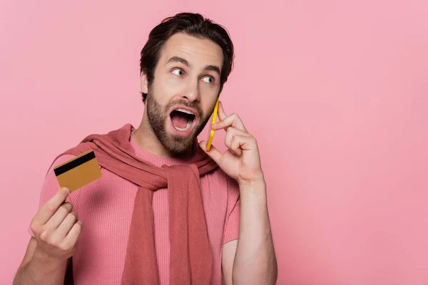
[[[228,207],[226,213],[225,227],[223,232],[223,244],[238,239],[240,222],[240,199],[239,185],[236,180],[227,177],[228,185]]]

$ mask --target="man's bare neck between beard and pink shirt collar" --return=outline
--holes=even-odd
[[[166,149],[162,145],[161,141],[158,140],[156,134],[153,132],[153,129],[148,122],[146,113],[143,115],[143,120],[141,120],[140,126],[133,132],[133,139],[143,150],[146,150],[146,152],[151,152],[154,155],[158,155],[160,157],[185,158],[193,155],[195,150],[195,147],[190,147],[187,152],[181,155],[175,155],[173,152],[170,152],[168,149]]]

